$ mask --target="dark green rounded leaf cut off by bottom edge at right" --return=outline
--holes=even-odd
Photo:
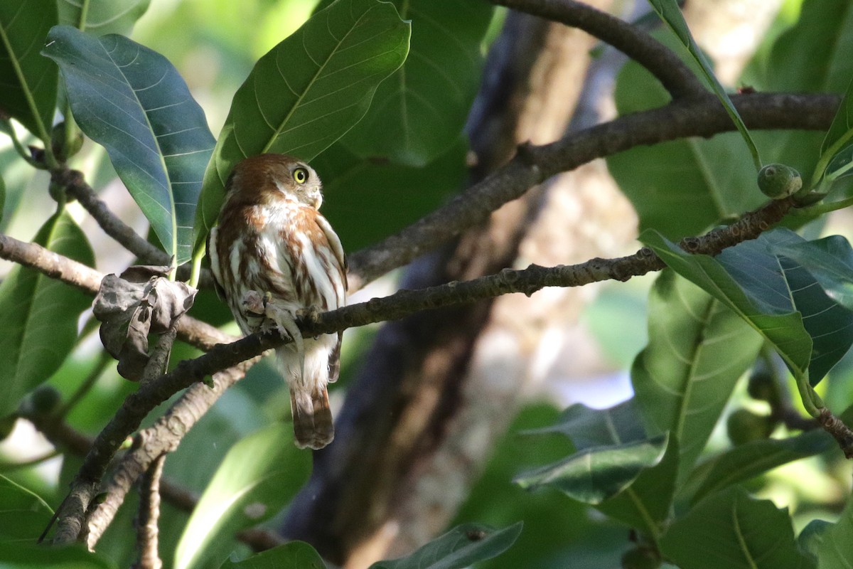
[[[660,542],[682,569],[807,569],[786,509],[740,488],[708,496],[670,525]]]

